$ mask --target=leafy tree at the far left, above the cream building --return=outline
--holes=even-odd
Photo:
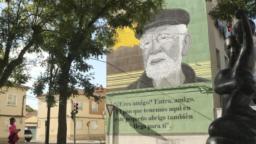
[[[19,87],[30,78],[24,54],[39,52],[46,24],[58,15],[53,0],[5,0],[0,13],[0,88]]]

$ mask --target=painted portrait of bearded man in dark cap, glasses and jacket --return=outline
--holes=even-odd
[[[141,40],[145,72],[125,90],[209,81],[196,77],[194,70],[182,63],[191,47],[189,21],[186,10],[164,9],[144,26],[143,35],[135,33]]]

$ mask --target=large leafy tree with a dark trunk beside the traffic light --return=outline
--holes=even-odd
[[[61,12],[52,22],[52,32],[42,48],[51,51],[58,67],[52,90],[60,97],[58,144],[66,143],[67,99],[78,94],[75,87],[83,87],[86,97],[94,97],[96,102],[103,99],[93,94],[98,87],[90,83],[93,75],[85,74],[93,68],[85,60],[108,54],[118,41],[118,28],[129,27],[142,33],[151,12],[157,13],[164,5],[164,0],[61,0],[57,3]],[[35,86],[42,84],[39,83]]]

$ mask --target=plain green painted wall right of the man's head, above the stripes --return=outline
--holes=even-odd
[[[182,63],[210,61],[205,0],[167,0],[166,3],[167,8],[181,8],[190,14],[188,32],[192,43]]]

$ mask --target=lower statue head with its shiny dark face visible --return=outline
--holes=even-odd
[[[230,60],[236,60],[241,49],[241,45],[237,42],[235,35],[229,35],[224,41],[224,48],[227,57]]]

